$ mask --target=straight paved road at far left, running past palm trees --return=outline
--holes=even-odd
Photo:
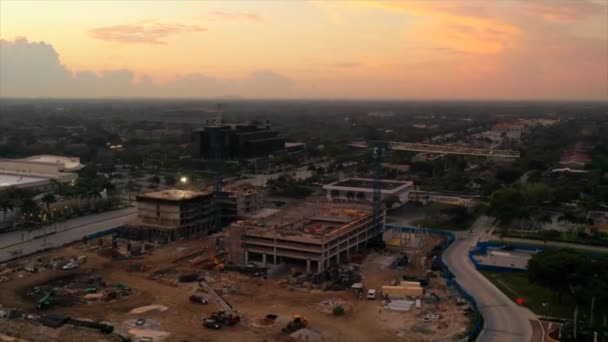
[[[128,221],[136,218],[136,208],[108,211],[100,214],[78,217],[57,226],[57,233],[42,237],[43,229],[25,234],[25,241],[22,240],[21,232],[11,232],[0,235],[0,262],[19,255],[29,255],[43,249],[59,247],[70,242],[82,239],[85,235],[99,232],[102,230],[121,226]],[[54,227],[46,227],[47,232],[54,231]]]

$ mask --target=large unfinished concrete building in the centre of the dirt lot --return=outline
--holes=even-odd
[[[364,204],[300,202],[263,219],[236,221],[229,227],[235,263],[299,264],[318,273],[349,259],[384,227],[384,212],[373,219]]]

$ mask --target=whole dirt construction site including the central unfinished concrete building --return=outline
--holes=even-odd
[[[0,326],[35,341],[464,336],[472,309],[439,276],[444,238],[373,239],[372,217],[369,205],[302,202],[211,236],[114,233],[16,259],[0,271]]]

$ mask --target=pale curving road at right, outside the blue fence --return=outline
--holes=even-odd
[[[488,222],[480,219],[474,225],[472,233],[457,233],[458,238],[444,252],[443,261],[450,267],[460,285],[477,300],[485,321],[478,341],[529,342],[532,339],[529,319],[536,319],[534,314],[512,302],[477,272],[469,260],[469,249],[486,233],[486,227]]]

